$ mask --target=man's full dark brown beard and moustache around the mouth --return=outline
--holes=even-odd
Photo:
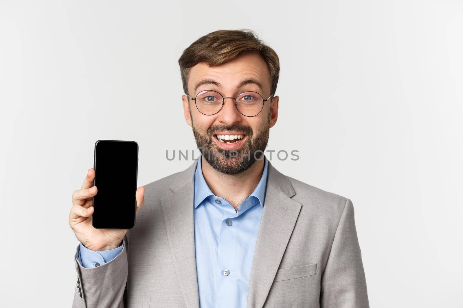
[[[193,120],[193,119],[192,119]],[[193,121],[192,121],[193,123]],[[252,128],[237,124],[234,126],[212,125],[206,133],[201,133],[192,125],[196,145],[200,149],[201,155],[217,171],[236,175],[249,169],[257,160],[262,160],[263,151],[269,142],[270,133],[270,113],[267,118],[267,125],[254,135]],[[240,131],[246,134],[247,138],[243,145],[236,150],[225,150],[220,148],[215,142],[214,135],[222,131]]]

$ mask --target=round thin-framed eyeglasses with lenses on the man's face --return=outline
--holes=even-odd
[[[225,104],[225,98],[233,98],[235,100],[236,109],[238,112],[245,116],[256,116],[263,109],[263,102],[267,102],[267,99],[263,99],[262,95],[257,92],[247,91],[239,94],[237,97],[223,97],[222,94],[212,90],[205,90],[199,92],[196,97],[191,97],[187,94],[194,103],[196,108],[203,115],[215,115],[222,109]]]

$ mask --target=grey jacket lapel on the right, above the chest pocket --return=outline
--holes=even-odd
[[[269,162],[269,175],[248,289],[248,308],[261,308],[280,266],[301,204],[285,175]]]

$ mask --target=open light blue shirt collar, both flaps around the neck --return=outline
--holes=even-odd
[[[194,208],[197,208],[201,202],[209,196],[214,196],[209,186],[207,186],[206,180],[202,174],[201,168],[201,155],[198,158],[198,164],[196,165],[196,170],[194,173]],[[260,205],[263,207],[265,201],[265,189],[267,187],[267,177],[268,177],[269,161],[264,155],[264,168],[262,177],[257,184],[256,189],[249,195],[254,196],[259,200]],[[249,198],[248,197],[248,198]]]

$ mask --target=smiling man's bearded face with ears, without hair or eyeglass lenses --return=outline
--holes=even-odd
[[[215,85],[208,82],[196,88],[205,79],[213,80]],[[247,79],[257,80],[263,89],[255,83],[239,85]],[[241,55],[220,66],[210,67],[200,62],[190,69],[188,94],[195,97],[200,91],[213,90],[223,97],[237,97],[242,92],[254,91],[266,99],[274,94],[270,93],[269,79],[267,64],[256,53]],[[194,100],[182,96],[185,119],[193,128],[196,145],[204,149],[201,150],[203,157],[214,169],[225,174],[238,174],[250,168],[256,158],[263,158],[269,129],[275,125],[278,115],[279,97],[274,97],[272,103],[270,100],[264,102],[262,111],[252,117],[240,114],[232,98],[225,98],[225,104],[218,113],[204,115],[196,108]],[[241,136],[238,136],[238,142],[229,144],[226,142],[234,142],[236,139],[233,137],[233,140],[226,140],[225,137],[222,142],[221,135]]]

